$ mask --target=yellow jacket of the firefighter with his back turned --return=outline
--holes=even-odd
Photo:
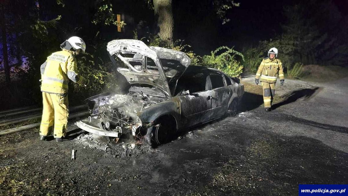
[[[73,52],[65,49],[48,56],[40,71],[42,92],[66,94],[69,79],[78,84],[89,83],[89,80],[77,73],[77,62]]]

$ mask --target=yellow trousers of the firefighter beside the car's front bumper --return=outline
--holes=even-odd
[[[40,135],[52,134],[54,138],[62,138],[66,134],[69,117],[68,95],[42,92],[42,117]]]

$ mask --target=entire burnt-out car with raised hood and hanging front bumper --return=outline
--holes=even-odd
[[[122,93],[87,99],[90,116],[77,122],[87,132],[145,138],[152,146],[177,131],[235,115],[244,87],[219,70],[189,66],[185,53],[148,47],[142,41],[110,41],[107,51],[126,84]]]

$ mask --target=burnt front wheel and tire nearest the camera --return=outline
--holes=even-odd
[[[173,140],[175,133],[175,122],[158,121],[153,126],[149,127],[146,134],[147,142],[152,147],[157,147],[161,144],[168,143]]]

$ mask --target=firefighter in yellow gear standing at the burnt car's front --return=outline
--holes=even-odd
[[[63,141],[69,117],[68,81],[88,85],[89,80],[77,73],[75,56],[85,52],[86,44],[79,37],[71,37],[61,45],[61,51],[52,53],[40,67],[42,118],[40,140],[52,132],[57,142]]]

